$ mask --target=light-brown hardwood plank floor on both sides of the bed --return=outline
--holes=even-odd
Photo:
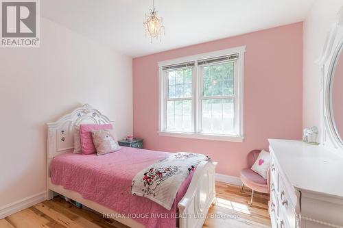
[[[217,204],[210,208],[204,228],[270,227],[268,194],[255,193],[253,205],[248,205],[251,191],[226,183],[216,183]],[[125,225],[102,218],[91,211],[79,209],[57,197],[44,201],[0,220],[1,228],[126,228]]]

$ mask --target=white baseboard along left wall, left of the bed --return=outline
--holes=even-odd
[[[31,207],[37,203],[43,202],[47,199],[47,192],[40,192],[38,194],[34,194],[31,197],[26,197],[14,203],[9,203],[3,207],[0,207],[0,219],[10,216],[16,212],[26,209],[27,207]]]

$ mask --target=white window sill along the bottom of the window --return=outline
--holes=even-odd
[[[227,142],[243,142],[243,136],[225,136],[225,135],[215,135],[215,134],[195,134],[187,132],[173,132],[173,131],[158,131],[159,136],[169,136],[178,138],[196,138],[202,140],[217,140],[217,141],[227,141]]]

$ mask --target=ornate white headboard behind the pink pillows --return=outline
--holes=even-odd
[[[62,116],[54,123],[47,123],[47,164],[56,155],[73,151],[74,125],[81,123],[113,123],[107,116],[95,110],[91,105],[83,105],[70,114]]]

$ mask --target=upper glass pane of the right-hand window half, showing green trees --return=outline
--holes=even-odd
[[[204,97],[233,95],[233,66],[226,62],[202,68]]]

